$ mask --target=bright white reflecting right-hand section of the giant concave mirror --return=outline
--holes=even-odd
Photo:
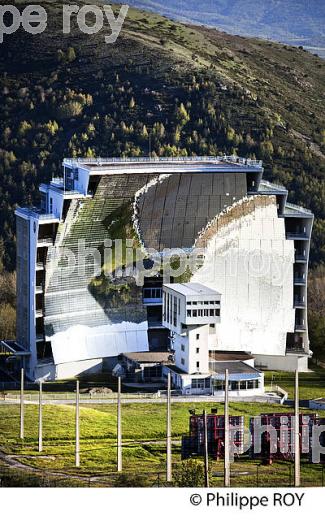
[[[204,264],[191,281],[222,294],[221,350],[284,356],[286,334],[294,331],[294,243],[285,238],[275,198],[255,201],[241,201],[254,204],[243,216],[237,203],[226,225],[210,228]]]

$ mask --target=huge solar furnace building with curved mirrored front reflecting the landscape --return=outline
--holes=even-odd
[[[73,377],[112,367],[121,353],[168,350],[165,282],[221,295],[216,350],[305,370],[313,215],[262,176],[260,161],[238,157],[64,160],[62,178],[40,186],[41,207],[16,210],[9,347],[28,354],[29,377]],[[176,261],[166,280],[157,258],[179,250],[195,262],[181,272]]]

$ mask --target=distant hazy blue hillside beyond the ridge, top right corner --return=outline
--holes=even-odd
[[[230,34],[303,45],[325,58],[325,4],[319,0],[130,0],[129,4]]]

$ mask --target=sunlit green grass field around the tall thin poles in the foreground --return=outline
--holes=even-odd
[[[173,466],[181,463],[180,438],[188,432],[188,410],[195,408],[201,412],[214,407],[213,403],[175,403],[172,405]],[[223,405],[215,404],[218,413],[223,413]],[[233,415],[244,415],[248,424],[249,416],[261,412],[283,411],[283,407],[253,403],[232,403]],[[289,411],[289,408],[285,408]],[[165,424],[164,404],[134,403],[123,405],[123,470],[129,474],[146,475],[149,485],[155,485],[158,474],[164,481],[165,471]],[[325,412],[323,413],[325,416]],[[84,478],[98,477],[92,485],[114,485],[116,478],[116,406],[82,405],[80,410],[81,466],[74,467],[74,408],[64,405],[44,405],[43,431],[44,450],[37,451],[38,411],[37,406],[25,407],[25,439],[19,439],[19,406],[0,407],[0,449],[14,455],[20,463],[30,468],[39,468],[43,474],[64,473],[66,478],[79,475]],[[221,486],[222,461],[212,461],[211,485]],[[3,466],[0,465],[0,473]],[[26,469],[26,468],[25,468]],[[271,466],[262,466],[259,461],[247,457],[232,464],[232,485],[234,486],[288,486],[293,482],[292,462],[282,461]],[[258,477],[257,477],[258,473]],[[74,483],[76,485],[76,482]],[[85,485],[80,481],[78,485]],[[322,467],[317,464],[302,463],[302,484],[322,485]]]

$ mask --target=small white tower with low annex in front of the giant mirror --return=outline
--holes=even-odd
[[[183,394],[218,395],[227,368],[232,395],[262,394],[263,374],[254,368],[253,357],[218,350],[221,297],[199,283],[163,285],[163,325],[170,331],[175,360],[164,372],[171,372],[173,386]]]

